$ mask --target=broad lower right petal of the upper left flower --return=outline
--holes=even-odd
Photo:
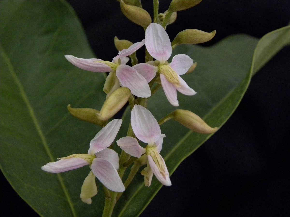
[[[116,76],[122,87],[128,87],[131,93],[137,97],[148,98],[151,96],[146,79],[140,75],[136,69],[128,65],[118,65]]]

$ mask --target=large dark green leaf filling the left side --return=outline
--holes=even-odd
[[[102,213],[102,187],[81,202],[88,167],[51,174],[44,164],[87,153],[100,127],[72,117],[66,106],[100,109],[104,76],[70,64],[65,54],[92,58],[81,24],[65,1],[0,3],[0,165],[17,193],[41,216]]]

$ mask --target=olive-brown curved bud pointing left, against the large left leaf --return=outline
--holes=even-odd
[[[97,113],[99,113],[99,111],[93,108],[72,108],[70,107],[70,104],[68,104],[68,111],[71,115],[80,120],[96,124],[101,127],[106,126],[108,123],[107,121],[98,119]]]

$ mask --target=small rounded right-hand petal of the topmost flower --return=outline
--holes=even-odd
[[[185,54],[178,54],[173,57],[172,62],[169,63],[171,68],[178,74],[183,75],[192,66],[193,59]]]

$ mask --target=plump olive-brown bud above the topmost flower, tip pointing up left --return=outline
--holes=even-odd
[[[123,14],[133,23],[136,23],[143,28],[147,28],[147,26],[152,22],[150,14],[148,14],[148,12],[143,8],[128,5],[124,3],[123,0],[120,1],[120,6]]]

